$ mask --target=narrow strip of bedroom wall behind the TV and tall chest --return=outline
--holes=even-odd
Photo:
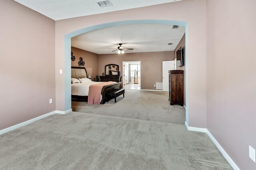
[[[181,40],[180,40],[180,42],[178,43],[178,45],[177,45],[177,47],[174,49],[174,59],[176,58],[176,52],[178,51],[178,49],[180,48],[180,46],[181,46],[181,48],[183,49],[183,53],[184,53],[184,57],[183,57],[183,66],[179,66],[179,67],[177,67],[176,69],[177,70],[180,70],[180,68],[182,69],[182,70],[184,70],[184,72],[183,72],[183,77],[184,77],[184,79],[183,79],[183,81],[184,81],[184,105],[186,106],[186,86],[185,86],[185,84],[186,84],[186,54],[185,54],[185,51],[186,51],[186,47],[185,47],[185,34],[183,35],[183,37],[181,38]]]

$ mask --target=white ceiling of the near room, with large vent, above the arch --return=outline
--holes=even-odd
[[[15,0],[53,20],[127,10],[180,0],[110,0],[113,6],[100,7],[100,0]]]

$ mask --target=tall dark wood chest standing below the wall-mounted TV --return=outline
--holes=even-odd
[[[184,105],[183,70],[169,71],[169,101],[170,105]]]

